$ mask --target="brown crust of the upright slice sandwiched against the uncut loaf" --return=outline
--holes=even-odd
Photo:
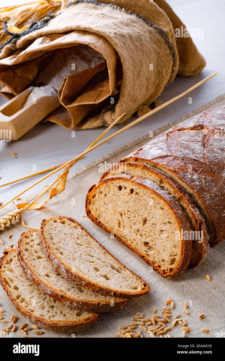
[[[190,260],[188,268],[192,269],[192,268],[197,267],[204,260],[204,257],[206,256],[206,254],[208,252],[209,235],[207,233],[205,221],[204,221],[203,217],[201,216],[201,214],[199,213],[199,210],[195,206],[191,197],[187,194],[187,192],[185,192],[183,190],[182,187],[180,187],[175,181],[173,181],[171,178],[169,178],[168,175],[166,175],[165,173],[163,173],[162,171],[160,171],[158,169],[151,167],[150,165],[147,165],[144,163],[135,163],[135,162],[125,162],[125,163],[122,163],[122,165],[123,165],[123,169],[125,166],[126,174],[135,175],[137,177],[140,177],[140,175],[135,174],[135,170],[137,170],[137,168],[138,168],[140,171],[142,171],[143,178],[146,178],[144,172],[147,172],[149,177],[151,175],[153,175],[154,177],[157,177],[159,179],[159,181],[163,180],[163,183],[169,189],[172,188],[172,190],[182,200],[182,203],[185,204],[186,208],[189,209],[189,212],[192,215],[192,219],[194,219],[194,222],[195,222],[195,225],[194,225],[195,230],[203,232],[203,242],[202,243],[198,243],[198,241],[196,241],[196,240],[192,241],[192,256],[191,256],[191,260]],[[133,174],[129,173],[129,169],[133,169]],[[112,171],[109,170],[108,172],[105,172],[101,176],[100,181],[102,181],[106,177],[111,177],[115,173],[120,174],[118,172],[121,172],[120,163],[118,163],[118,165],[116,167],[114,167]],[[152,180],[154,182],[154,179],[150,179],[150,180]],[[193,254],[193,252],[194,252],[194,254]]]

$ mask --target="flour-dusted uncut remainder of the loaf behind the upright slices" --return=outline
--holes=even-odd
[[[208,110],[174,126],[122,159],[146,162],[187,187],[211,220],[212,247],[225,239],[225,142],[215,136],[220,129],[225,129],[225,107]],[[207,225],[204,214],[203,217]],[[210,233],[208,225],[207,228]]]

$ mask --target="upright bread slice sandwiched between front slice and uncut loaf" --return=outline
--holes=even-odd
[[[197,267],[203,260],[209,248],[209,235],[205,221],[199,213],[191,197],[175,181],[165,173],[144,163],[126,162],[118,163],[113,169],[103,174],[101,180],[112,175],[123,174],[150,179],[158,186],[173,195],[183,208],[190,224],[192,232],[192,254],[188,268]]]

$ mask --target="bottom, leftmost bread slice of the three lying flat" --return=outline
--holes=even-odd
[[[42,293],[23,272],[16,249],[5,251],[0,258],[0,283],[16,309],[40,328],[79,332],[99,318],[99,314],[71,309]]]

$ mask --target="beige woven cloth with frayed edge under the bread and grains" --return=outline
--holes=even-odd
[[[225,105],[225,94],[196,109],[194,112],[185,114],[173,124],[155,130],[154,136],[203,110],[216,108],[221,105]],[[151,286],[151,291],[148,295],[131,300],[129,305],[121,311],[102,314],[99,321],[92,326],[90,330],[75,335],[58,334],[46,330],[42,336],[37,337],[75,336],[102,338],[116,336],[118,326],[128,326],[136,312],[142,312],[144,316],[151,317],[153,315],[152,309],[155,307],[157,310],[156,314],[160,314],[160,309],[162,309],[165,302],[169,299],[173,299],[175,304],[175,309],[172,310],[173,316],[181,314],[191,329],[187,337],[207,338],[209,334],[202,332],[201,329],[210,329],[211,323],[212,329],[210,337],[225,336],[225,242],[220,243],[215,248],[210,248],[204,262],[198,268],[187,270],[185,274],[177,280],[166,280],[152,271],[152,268],[120,242],[111,239],[110,235],[94,225],[85,215],[85,196],[89,187],[99,181],[101,175],[99,173],[99,164],[103,162],[107,162],[107,164],[116,163],[148,140],[148,135],[145,135],[141,139],[136,139],[132,143],[125,144],[123,148],[117,149],[103,158],[94,161],[92,164],[85,166],[85,168],[79,169],[75,174],[70,175],[63,193],[54,197],[43,209],[26,212],[23,215],[23,220],[27,225],[39,227],[43,218],[52,216],[61,215],[77,219],[77,221],[85,226],[114,256],[146,280]],[[31,200],[31,197],[29,200]],[[25,229],[21,224],[16,222],[13,227],[1,233],[1,239],[5,242],[5,245],[16,244],[20,234],[24,231]],[[11,239],[8,239],[9,234],[12,234]],[[3,248],[5,246],[1,245],[0,247]],[[210,282],[205,279],[205,274],[210,275]],[[10,321],[12,314],[14,314],[18,317],[17,326],[22,325],[26,321],[25,318],[16,311],[2,288],[0,289],[0,296],[0,308],[4,310],[5,319]],[[185,301],[189,302],[188,311],[190,315],[183,313]],[[198,316],[202,313],[205,314],[205,318],[199,320]],[[8,326],[9,324],[10,323],[8,323]],[[176,325],[172,331],[169,332],[172,337],[181,337],[182,335],[182,330],[179,325]],[[145,337],[148,336],[146,332],[142,333]],[[20,331],[10,335],[12,337],[23,337]],[[29,331],[29,335],[35,336],[34,331]]]

